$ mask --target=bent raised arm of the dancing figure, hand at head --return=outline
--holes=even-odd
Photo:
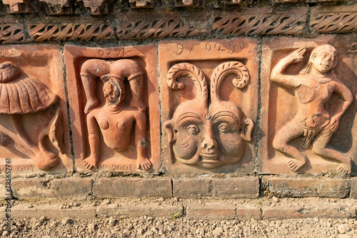
[[[305,52],[305,48],[298,48],[285,58],[282,58],[276,66],[273,67],[273,70],[271,71],[271,80],[286,87],[297,87],[301,85],[301,81],[297,76],[284,74],[283,72],[289,64],[302,61]]]

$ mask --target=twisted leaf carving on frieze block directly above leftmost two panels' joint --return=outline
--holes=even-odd
[[[29,24],[29,34],[34,41],[71,41],[111,38],[111,25],[87,24]]]

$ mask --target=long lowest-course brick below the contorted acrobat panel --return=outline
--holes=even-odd
[[[180,212],[183,214],[183,207],[146,204],[146,205],[100,205],[96,209],[96,214],[109,217],[170,217],[170,214]]]

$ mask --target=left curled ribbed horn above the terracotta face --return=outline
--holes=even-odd
[[[208,99],[208,89],[206,77],[203,71],[192,63],[178,63],[172,66],[167,73],[166,83],[174,89],[179,90],[185,88],[183,83],[178,83],[178,79],[181,77],[191,78],[197,87],[198,93],[201,95],[201,100],[206,102]]]

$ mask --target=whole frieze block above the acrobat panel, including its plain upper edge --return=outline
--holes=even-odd
[[[159,16],[121,15],[116,33],[121,39],[196,36],[207,31],[206,13],[200,15],[186,19],[172,13]]]

